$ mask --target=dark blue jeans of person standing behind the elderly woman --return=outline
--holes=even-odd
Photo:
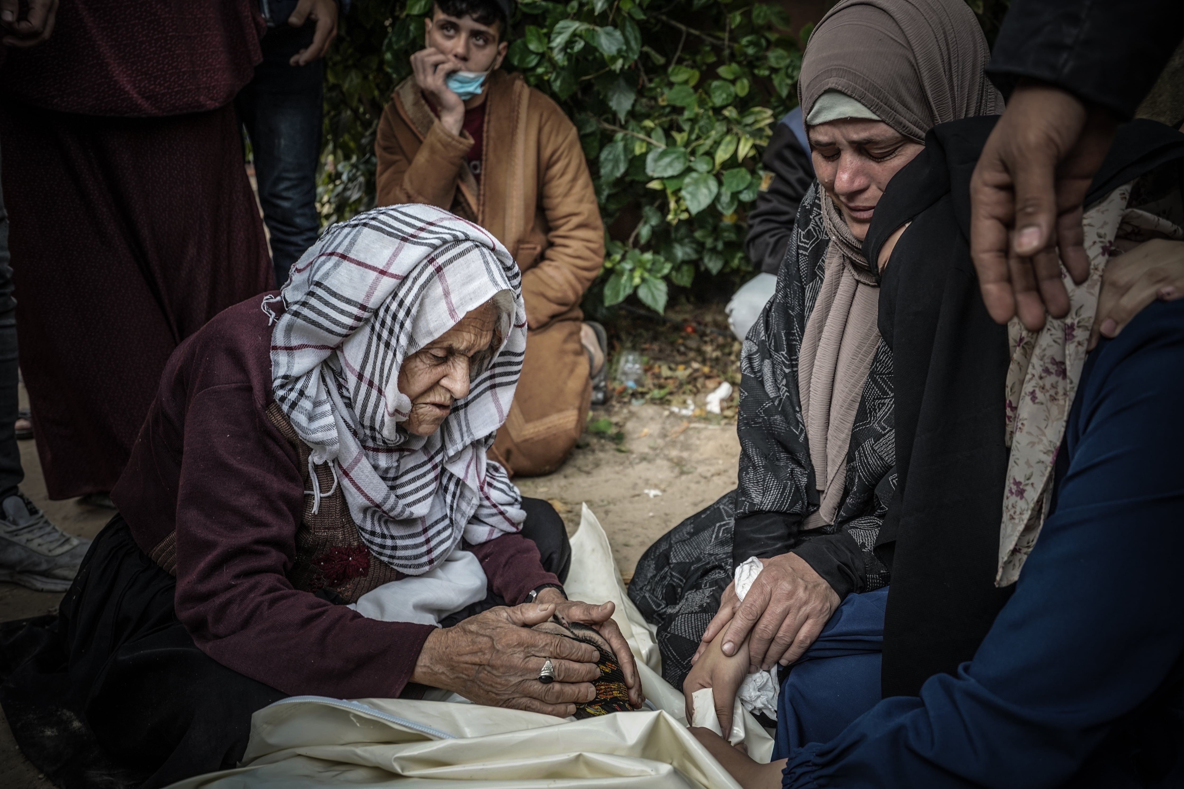
[[[234,99],[251,140],[263,221],[271,233],[276,284],[321,232],[316,213],[316,166],[321,159],[324,63],[288,65],[313,41],[314,22],[269,27],[263,62]]]

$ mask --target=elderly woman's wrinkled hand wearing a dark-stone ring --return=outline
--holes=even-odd
[[[411,680],[477,704],[560,718],[575,714],[577,701],[596,698],[599,652],[590,644],[530,629],[554,613],[554,606],[540,603],[498,607],[437,629],[424,642]],[[539,672],[548,659],[555,681],[543,685]]]

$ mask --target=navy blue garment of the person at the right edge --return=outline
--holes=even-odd
[[[1184,785],[1184,300],[1089,355],[1055,507],[957,675],[790,757],[784,787]]]

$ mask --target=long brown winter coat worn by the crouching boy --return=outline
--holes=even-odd
[[[517,260],[529,331],[493,453],[511,473],[545,474],[567,457],[588,409],[579,303],[604,260],[604,225],[575,127],[520,75],[490,75],[483,135],[478,185],[465,163],[472,138],[445,130],[407,78],[378,128],[378,203],[446,208]]]

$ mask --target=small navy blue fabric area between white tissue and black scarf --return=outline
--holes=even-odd
[[[880,701],[888,587],[847,595],[781,680],[773,758],[825,743]],[[783,670],[784,672],[785,670]]]

